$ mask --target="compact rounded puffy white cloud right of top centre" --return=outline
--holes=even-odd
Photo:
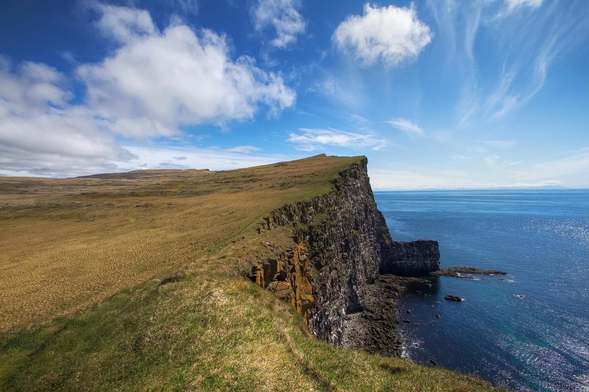
[[[419,21],[415,8],[364,5],[364,14],[350,15],[337,26],[332,39],[337,47],[364,65],[379,59],[386,66],[415,59],[433,37],[429,26]]]

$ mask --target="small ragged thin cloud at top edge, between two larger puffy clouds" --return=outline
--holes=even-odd
[[[297,34],[305,31],[305,21],[298,8],[300,0],[258,0],[252,11],[256,30],[272,26],[276,30],[272,45],[287,48],[296,42]]]

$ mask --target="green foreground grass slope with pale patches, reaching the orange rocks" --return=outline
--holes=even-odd
[[[1,334],[0,390],[492,390],[307,336],[289,306],[236,276],[272,255],[266,242],[274,252],[292,246],[290,234],[221,239],[159,276],[177,277],[170,283],[148,280],[90,309]]]

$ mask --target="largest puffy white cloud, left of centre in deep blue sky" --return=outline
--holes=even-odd
[[[104,6],[98,26],[121,42],[111,58],[82,65],[88,105],[128,136],[169,136],[184,125],[253,118],[292,106],[282,78],[241,56],[233,61],[224,36],[186,25],[158,31],[146,11]]]

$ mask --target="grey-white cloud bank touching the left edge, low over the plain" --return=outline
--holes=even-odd
[[[35,175],[75,175],[136,158],[83,106],[68,105],[65,76],[42,63],[0,61],[0,167]]]

